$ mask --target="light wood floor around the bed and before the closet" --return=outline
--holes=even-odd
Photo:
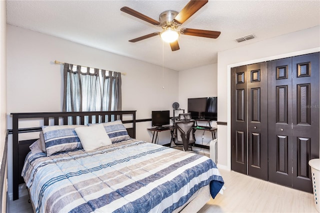
[[[209,155],[208,151],[197,150]],[[210,200],[199,213],[211,212],[317,212],[313,194],[268,181],[260,180],[234,171],[219,169],[226,187],[223,194]],[[10,200],[9,213],[32,212],[28,195]]]

